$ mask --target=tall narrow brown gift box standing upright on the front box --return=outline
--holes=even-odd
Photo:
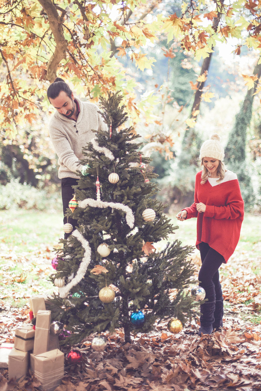
[[[39,310],[36,316],[34,335],[34,354],[45,353],[48,350],[51,311]]]

